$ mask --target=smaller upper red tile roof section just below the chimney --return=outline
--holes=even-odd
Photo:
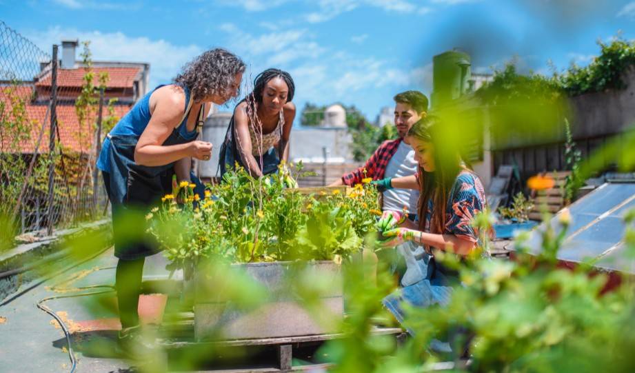
[[[99,75],[107,72],[110,78],[107,88],[132,88],[134,79],[141,71],[141,68],[92,68],[94,73],[93,84],[98,84]],[[81,88],[83,85],[83,77],[86,74],[85,68],[77,69],[59,69],[57,74],[57,86],[67,88]],[[51,73],[50,70],[35,83],[38,87],[50,87]]]

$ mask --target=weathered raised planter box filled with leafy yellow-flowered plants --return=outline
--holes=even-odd
[[[343,315],[340,265],[374,232],[377,194],[357,185],[316,198],[285,189],[286,172],[281,166],[266,179],[228,173],[203,200],[183,184],[148,214],[172,269],[184,270],[196,339],[335,331]],[[234,292],[237,284],[252,296],[235,299],[245,294]]]

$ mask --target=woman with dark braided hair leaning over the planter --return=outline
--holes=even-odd
[[[275,173],[288,161],[295,92],[288,72],[267,69],[254,80],[254,90],[234,109],[219,155],[221,177],[236,163],[252,177]]]

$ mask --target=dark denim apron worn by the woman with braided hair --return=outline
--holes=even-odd
[[[223,175],[228,171],[234,170],[236,165],[239,165],[240,167],[247,170],[247,167],[241,159],[238,147],[236,146],[236,130],[234,129],[234,127],[234,116],[232,115],[232,119],[230,119],[230,125],[228,126],[227,132],[225,133],[225,141],[223,141],[223,145],[221,145],[221,150],[219,151],[219,168],[221,170],[221,181],[223,180]],[[280,130],[282,131],[282,127]],[[282,140],[282,133],[280,134],[280,138]],[[282,141],[280,141],[279,143],[281,142]],[[258,166],[262,170],[263,175],[275,174],[276,172],[278,172],[278,165],[280,164],[282,152],[283,149],[279,146],[276,154],[276,149],[274,149],[274,147],[272,146],[262,155],[262,157],[256,157],[256,163],[258,163]]]

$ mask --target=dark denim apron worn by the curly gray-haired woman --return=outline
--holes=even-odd
[[[192,108],[190,98],[181,124],[172,130],[162,145],[178,145],[196,140],[183,137],[179,132]],[[201,107],[196,128],[203,118]],[[114,235],[114,256],[124,260],[140,259],[157,254],[159,245],[145,234],[147,222],[145,213],[161,201],[161,197],[170,192],[172,168],[174,163],[159,166],[138,165],[134,162],[134,148],[139,141],[138,135],[108,134],[110,139],[110,203],[112,203],[112,226]]]

